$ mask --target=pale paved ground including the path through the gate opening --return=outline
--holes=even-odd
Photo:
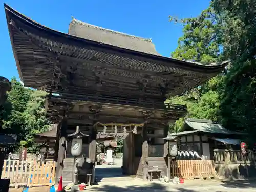
[[[184,184],[146,182],[141,179],[122,175],[121,159],[115,165],[97,165],[98,185],[87,187],[84,192],[255,192],[256,180],[221,182],[216,180],[185,180]],[[9,192],[22,192],[10,189]],[[29,192],[49,192],[49,187],[33,187]]]

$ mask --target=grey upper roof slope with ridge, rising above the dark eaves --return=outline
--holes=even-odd
[[[128,35],[118,31],[91,25],[80,20],[73,20],[69,25],[69,34],[88,40],[108,44],[120,48],[130,49],[143,53],[160,55],[151,39]]]

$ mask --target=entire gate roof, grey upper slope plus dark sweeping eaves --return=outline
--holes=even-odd
[[[27,87],[50,85],[54,59],[59,57],[73,59],[69,63],[79,60],[92,63],[90,65],[93,66],[99,63],[103,67],[151,72],[156,76],[161,73],[166,76],[188,75],[190,79],[173,90],[172,95],[204,83],[227,65],[227,62],[201,65],[163,57],[155,51],[149,39],[106,30],[77,20],[71,22],[70,34],[66,34],[42,26],[6,4],[5,12],[19,77]],[[88,32],[84,33],[85,30]],[[101,36],[97,36],[100,32]]]

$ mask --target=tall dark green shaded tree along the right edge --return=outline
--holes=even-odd
[[[231,60],[223,80],[220,112],[222,123],[230,130],[256,136],[256,1],[215,0],[211,7],[220,15],[223,55]]]

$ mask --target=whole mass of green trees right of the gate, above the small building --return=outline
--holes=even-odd
[[[187,104],[187,117],[218,120],[229,130],[256,135],[255,18],[255,0],[213,0],[196,18],[170,17],[172,22],[184,25],[172,57],[206,65],[230,60],[227,71],[169,99]],[[178,127],[181,124],[182,119],[177,121]]]

